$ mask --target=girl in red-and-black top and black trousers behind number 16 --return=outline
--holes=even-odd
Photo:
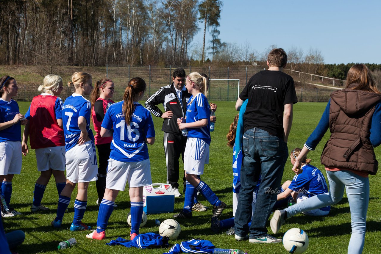
[[[94,90],[91,92],[91,117],[93,118],[95,134],[95,146],[98,150],[99,168],[98,180],[96,181],[96,191],[98,193],[97,204],[102,202],[104,190],[106,189],[107,163],[110,158],[112,137],[101,137],[101,125],[107,109],[115,103],[111,100],[114,95],[114,82],[108,78],[103,78],[96,82]],[[117,207],[114,204],[114,207]]]

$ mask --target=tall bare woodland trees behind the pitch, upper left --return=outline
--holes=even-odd
[[[210,30],[212,45],[219,42],[220,0],[3,0],[0,5],[5,64],[186,65],[197,22],[204,23],[204,38]]]

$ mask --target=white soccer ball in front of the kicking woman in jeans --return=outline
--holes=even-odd
[[[300,254],[308,248],[308,236],[300,228],[291,228],[283,235],[283,246],[293,254]]]

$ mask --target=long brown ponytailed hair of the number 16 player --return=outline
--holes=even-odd
[[[123,114],[127,125],[130,125],[131,117],[135,109],[134,101],[140,92],[146,90],[146,82],[142,78],[131,78],[123,94]]]

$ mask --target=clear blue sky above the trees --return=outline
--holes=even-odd
[[[225,0],[219,38],[259,53],[272,44],[306,53],[318,49],[327,64],[381,64],[380,0]],[[201,44],[203,24],[194,38]],[[207,32],[207,40],[211,36]]]

